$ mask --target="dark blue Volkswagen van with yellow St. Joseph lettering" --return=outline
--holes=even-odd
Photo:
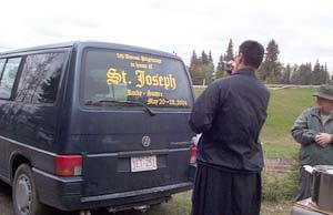
[[[72,42],[0,53],[0,178],[18,215],[145,208],[190,190],[182,60]]]

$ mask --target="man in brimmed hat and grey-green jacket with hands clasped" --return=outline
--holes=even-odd
[[[333,165],[333,86],[321,85],[313,95],[315,106],[305,110],[291,129],[292,136],[301,144],[296,201],[311,196],[312,175],[303,166]]]

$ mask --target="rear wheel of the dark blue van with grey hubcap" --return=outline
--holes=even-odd
[[[43,205],[38,199],[32,172],[29,165],[21,164],[12,184],[12,202],[17,215],[41,215]]]

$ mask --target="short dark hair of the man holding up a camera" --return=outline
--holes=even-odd
[[[240,45],[240,53],[243,53],[244,65],[258,69],[264,55],[264,48],[256,41],[246,40]]]

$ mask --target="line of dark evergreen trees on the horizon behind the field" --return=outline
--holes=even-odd
[[[264,83],[320,85],[331,82],[326,63],[322,64],[316,60],[314,65],[311,62],[284,65],[280,62],[279,54],[279,44],[272,39],[265,48],[263,62],[256,71],[256,76]],[[203,50],[201,55],[198,55],[193,50],[189,66],[193,84],[208,85],[215,79],[225,76],[226,72],[222,69],[222,62],[234,60],[236,55],[232,39],[229,41],[226,51],[220,55],[216,66],[211,51],[206,54]]]

